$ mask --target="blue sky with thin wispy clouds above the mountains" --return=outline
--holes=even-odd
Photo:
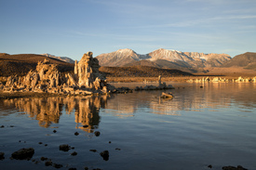
[[[0,0],[0,52],[256,51],[255,0]]]

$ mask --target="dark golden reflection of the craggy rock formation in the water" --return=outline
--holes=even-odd
[[[42,127],[59,124],[62,113],[74,112],[76,128],[87,132],[100,124],[100,108],[104,108],[108,96],[101,98],[50,97],[50,98],[13,98],[3,101],[4,106],[13,106],[29,114]]]

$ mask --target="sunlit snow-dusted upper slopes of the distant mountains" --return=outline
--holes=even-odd
[[[204,54],[198,52],[182,52],[174,49],[159,48],[145,55],[137,54],[132,49],[118,49],[115,52],[101,54],[98,57],[101,66],[124,66],[126,64],[148,60],[183,64],[185,67],[205,67],[206,65],[222,65],[230,59],[229,55]]]

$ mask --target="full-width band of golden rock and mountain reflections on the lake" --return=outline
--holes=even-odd
[[[256,84],[210,83],[174,84],[176,89],[168,90],[173,99],[159,98],[162,91],[135,91],[101,97],[52,97],[14,98],[0,100],[1,108],[13,106],[38,120],[38,124],[49,127],[59,124],[62,113],[74,113],[75,127],[93,132],[100,124],[100,110],[104,113],[126,118],[151,112],[155,114],[182,115],[182,111],[218,111],[232,105],[241,111],[254,111],[256,106]]]

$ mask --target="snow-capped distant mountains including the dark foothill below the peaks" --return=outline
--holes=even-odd
[[[118,49],[112,53],[96,57],[101,66],[150,66],[161,69],[180,69],[182,71],[197,71],[207,67],[219,67],[229,61],[227,54],[204,54],[198,52],[181,52],[159,48],[145,55],[137,54],[131,49]]]

